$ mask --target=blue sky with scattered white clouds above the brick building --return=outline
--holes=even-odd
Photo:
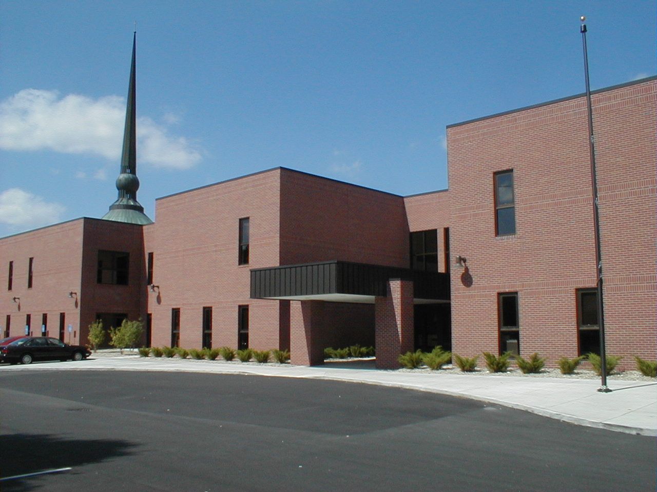
[[[445,126],[656,73],[656,1],[0,3],[0,237],[276,166],[447,188]]]

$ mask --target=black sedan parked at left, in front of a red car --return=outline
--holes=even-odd
[[[11,364],[30,364],[33,360],[82,360],[90,355],[87,347],[68,345],[49,337],[21,337],[0,346],[0,362]]]

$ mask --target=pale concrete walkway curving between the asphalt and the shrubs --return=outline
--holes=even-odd
[[[657,381],[608,381],[610,393],[597,392],[599,380],[533,378],[466,373],[378,371],[371,363],[327,363],[305,367],[193,359],[141,358],[99,352],[79,362],[3,365],[0,371],[53,370],[189,371],[198,373],[315,378],[361,382],[435,392],[497,403],[574,424],[629,434],[657,436]]]

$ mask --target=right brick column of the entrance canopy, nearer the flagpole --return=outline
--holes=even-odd
[[[376,368],[397,369],[397,357],[413,350],[413,281],[390,279],[388,295],[374,300]]]

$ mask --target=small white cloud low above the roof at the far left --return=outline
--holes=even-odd
[[[43,198],[10,188],[0,193],[0,222],[14,227],[40,227],[60,221],[66,208]]]

